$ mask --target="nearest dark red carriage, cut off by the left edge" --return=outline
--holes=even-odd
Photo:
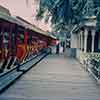
[[[0,70],[10,69],[15,62],[16,39],[15,24],[9,21],[9,16],[0,16]]]

